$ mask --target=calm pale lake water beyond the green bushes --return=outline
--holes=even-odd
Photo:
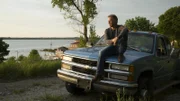
[[[3,40],[9,44],[8,50],[10,50],[9,55],[6,57],[15,56],[18,57],[20,55],[28,56],[29,52],[32,49],[37,49],[40,55],[43,57],[50,53],[40,51],[42,49],[54,49],[61,46],[69,47],[70,43],[74,42],[74,39],[31,39],[31,40]],[[52,54],[52,53],[51,53]]]

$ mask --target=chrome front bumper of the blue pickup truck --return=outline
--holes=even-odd
[[[72,70],[58,69],[57,76],[65,82],[76,84],[79,88],[84,88],[86,91],[93,89],[96,91],[115,93],[117,90],[120,90],[120,93],[134,95],[138,87],[136,83],[119,82],[106,78],[97,83],[92,83],[94,76]]]

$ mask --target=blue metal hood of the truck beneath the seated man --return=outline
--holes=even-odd
[[[88,60],[98,60],[99,51],[104,47],[90,47],[90,48],[77,48],[74,50],[67,50],[65,51],[65,55],[70,55],[73,57],[79,57],[84,58]],[[127,50],[124,53],[125,60],[123,64],[131,64],[133,61],[140,59],[142,57],[150,56],[152,54],[145,53],[145,52],[138,52],[135,50]],[[117,55],[116,56],[110,56],[106,58],[106,61],[108,62],[118,62]]]

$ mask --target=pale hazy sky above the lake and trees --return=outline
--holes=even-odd
[[[136,16],[158,24],[158,17],[180,0],[102,0],[93,21],[97,34],[108,28],[107,16],[116,14],[119,24]],[[82,29],[83,30],[83,29]],[[62,12],[52,7],[51,0],[1,0],[0,37],[78,37]]]

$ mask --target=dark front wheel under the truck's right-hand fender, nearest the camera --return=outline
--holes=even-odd
[[[134,101],[152,101],[153,100],[153,79],[147,77],[140,77],[138,81],[138,91],[135,94]]]

